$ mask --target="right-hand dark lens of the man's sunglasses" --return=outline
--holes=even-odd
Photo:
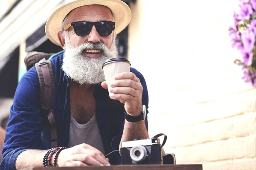
[[[114,24],[110,21],[96,23],[96,29],[101,36],[109,36],[113,31]]]

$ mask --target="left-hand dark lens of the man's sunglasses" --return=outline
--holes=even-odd
[[[77,22],[74,24],[74,30],[76,32],[76,35],[84,37],[90,34],[90,31],[92,29],[92,23],[90,22]]]

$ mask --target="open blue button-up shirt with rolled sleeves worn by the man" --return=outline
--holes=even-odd
[[[67,147],[70,129],[70,92],[69,79],[61,69],[62,59],[63,54],[51,59],[56,83],[53,110],[58,146]],[[142,103],[148,109],[148,91],[145,79],[136,69],[131,68],[131,72],[140,79],[143,85]],[[108,90],[102,88],[101,85],[96,85],[93,96],[96,101],[96,119],[105,153],[118,150],[125,121],[124,105],[118,100],[110,99]],[[16,89],[6,128],[1,170],[16,169],[17,156],[27,149],[47,150],[51,147],[49,122],[46,115],[40,114],[39,100],[39,79],[36,69],[33,67],[24,74]],[[147,116],[145,124],[148,129]],[[109,157],[109,159],[111,164],[120,163],[119,155]]]

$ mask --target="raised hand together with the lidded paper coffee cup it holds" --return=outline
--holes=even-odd
[[[102,68],[106,79],[102,87],[108,89],[110,98],[119,99],[129,115],[139,116],[142,111],[143,87],[140,79],[130,72],[130,62],[125,58],[109,59]]]

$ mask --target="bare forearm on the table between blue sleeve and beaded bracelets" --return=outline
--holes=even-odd
[[[48,150],[25,150],[16,160],[16,169],[26,167],[43,167],[43,158]]]

